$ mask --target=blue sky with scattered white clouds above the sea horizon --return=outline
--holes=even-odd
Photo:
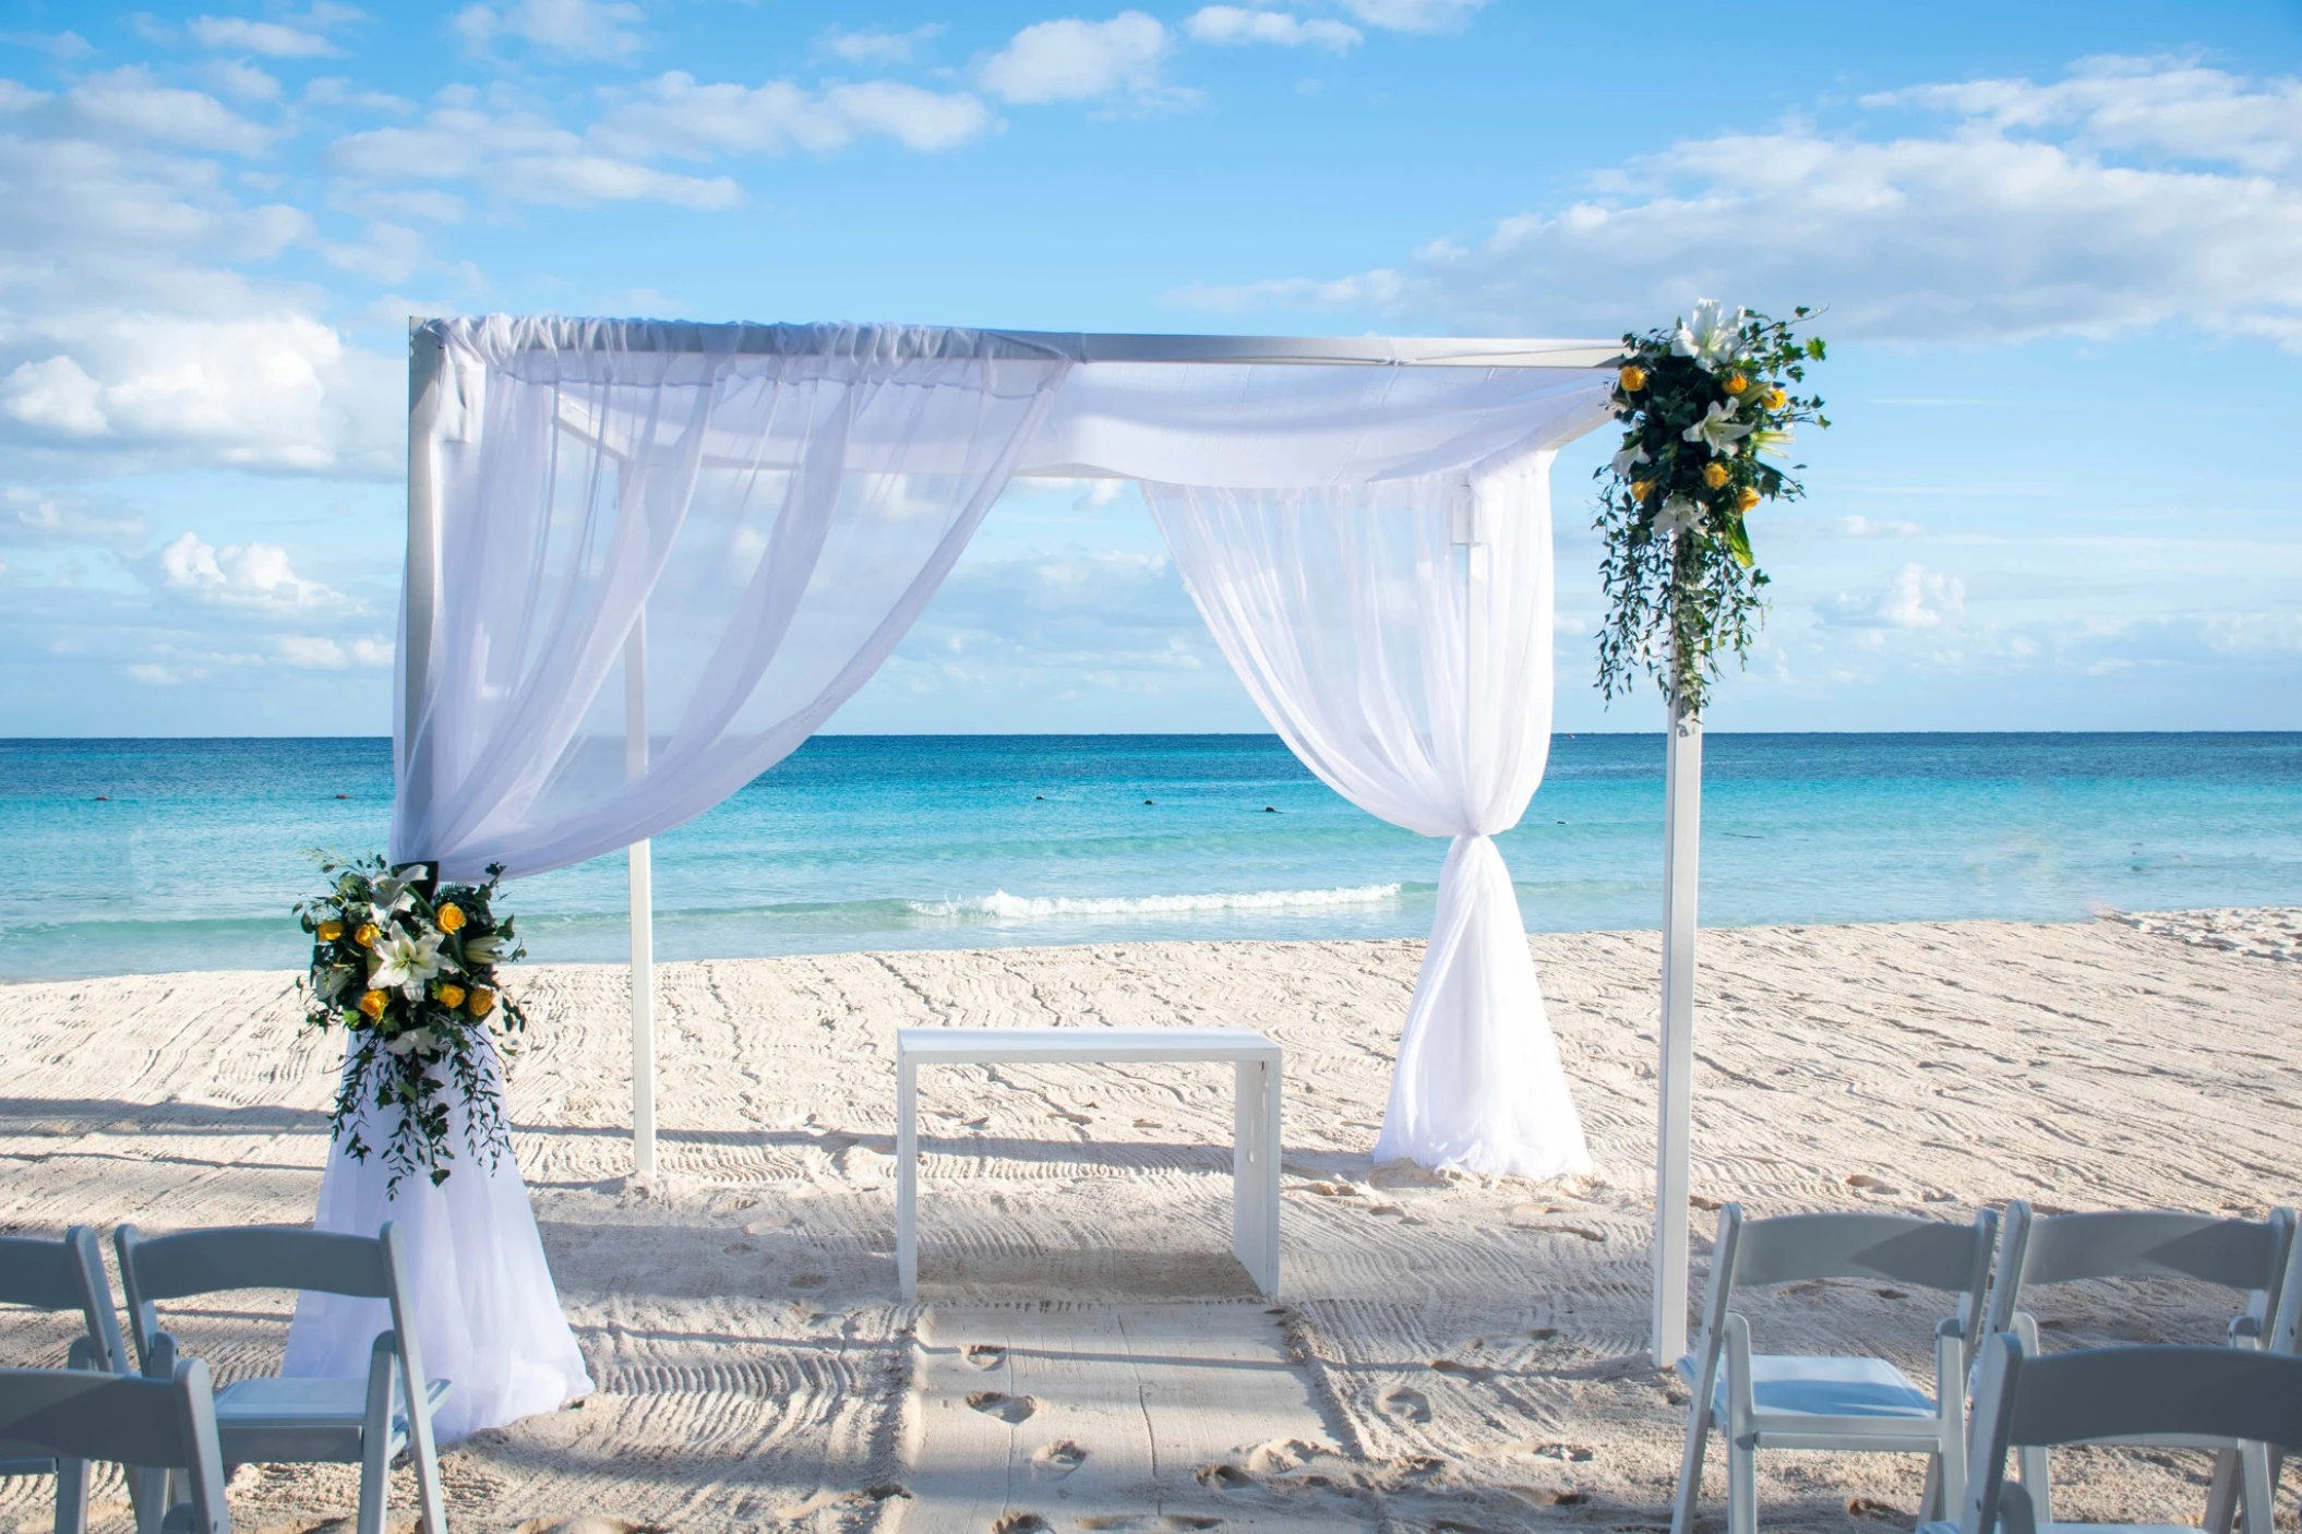
[[[1828,306],[1715,728],[2302,728],[2302,12],[0,5],[0,735],[389,730],[405,316],[1609,336]],[[1558,465],[1558,723],[1591,691]],[[1017,486],[861,730],[1259,728]]]

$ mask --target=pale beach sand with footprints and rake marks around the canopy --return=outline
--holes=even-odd
[[[2302,1198],[2297,912],[1703,935],[1697,1230]],[[1683,1405],[1644,1359],[1651,933],[1533,940],[1598,1172],[1374,1168],[1420,947],[1112,944],[663,965],[663,1172],[626,1177],[624,974],[536,967],[511,1108],[599,1393],[447,1453],[463,1529],[1519,1529],[1667,1522]],[[290,974],[0,988],[0,1225],[308,1218],[336,1053]],[[1285,1276],[1227,1253],[1215,1066],[923,1083],[923,1294],[893,1281],[893,1027],[1220,1023],[1287,1048]],[[1706,1241],[1697,1241],[1703,1258]],[[1699,1278],[1697,1278],[1699,1285]],[[1922,1375],[1943,1297],[1802,1285],[1766,1350],[1883,1341]],[[2072,1343],[2215,1341],[2180,1285],[2040,1297]],[[285,1297],[173,1311],[230,1375]],[[0,1313],[0,1357],[67,1327]],[[1761,1456],[1770,1527],[1908,1527],[1920,1460]],[[2063,1516],[2194,1520],[2203,1458],[2072,1458]],[[396,1513],[405,1516],[405,1472]],[[1713,1456],[1706,1527],[1722,1525]],[[117,1481],[99,1486],[117,1522]],[[246,1529],[345,1518],[352,1470],[244,1467]],[[101,1509],[99,1509],[101,1511]],[[0,1488],[0,1525],[46,1527]]]

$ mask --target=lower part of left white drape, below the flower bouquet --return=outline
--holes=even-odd
[[[488,1073],[502,1083],[493,1057]],[[389,1126],[378,1122],[373,1106],[364,1124],[366,1140],[382,1145]],[[493,1172],[474,1163],[463,1131],[465,1112],[451,1106],[453,1175],[440,1186],[407,1177],[394,1198],[384,1198],[384,1172],[375,1159],[361,1163],[341,1147],[331,1149],[313,1221],[320,1230],[352,1235],[398,1223],[414,1285],[405,1299],[417,1320],[424,1370],[456,1382],[433,1419],[442,1444],[592,1393],[582,1352],[559,1315],[527,1184],[509,1152]],[[382,1299],[299,1294],[283,1373],[364,1377],[368,1347],[389,1327]]]

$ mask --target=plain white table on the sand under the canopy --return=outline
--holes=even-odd
[[[1266,1297],[1280,1292],[1280,1046],[1248,1027],[898,1027],[895,1276],[918,1299],[918,1066],[1006,1062],[1146,1064],[1229,1060],[1232,1253]]]

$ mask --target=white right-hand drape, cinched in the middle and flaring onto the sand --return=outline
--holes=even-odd
[[[1215,643],[1303,765],[1455,838],[1377,1161],[1591,1165],[1492,841],[1549,753],[1549,461],[1326,491],[1144,486]]]

